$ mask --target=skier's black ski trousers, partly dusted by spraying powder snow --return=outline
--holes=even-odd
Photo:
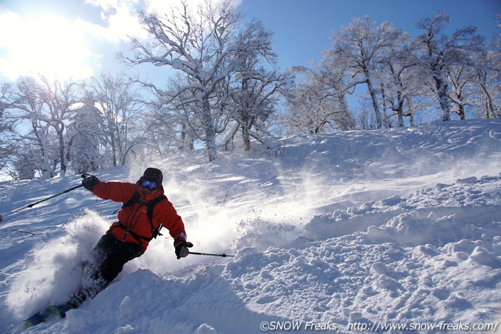
[[[143,254],[137,243],[119,241],[113,235],[106,233],[94,247],[93,268],[90,278],[93,281],[89,287],[89,297],[93,298],[108,286],[124,269],[124,265]]]

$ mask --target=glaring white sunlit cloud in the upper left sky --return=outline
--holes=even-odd
[[[190,8],[205,0],[189,0]],[[214,0],[222,1],[222,0]],[[242,0],[233,0],[238,5]],[[19,75],[42,73],[67,80],[84,78],[101,70],[102,58],[110,58],[128,43],[128,36],[146,40],[148,34],[137,21],[137,10],[170,12],[178,0],[85,0],[102,10],[106,26],[82,19],[14,12],[0,13],[0,76],[16,80]],[[143,7],[140,7],[143,6]]]

